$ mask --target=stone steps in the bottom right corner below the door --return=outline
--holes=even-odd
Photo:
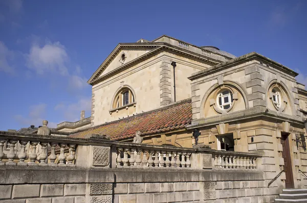
[[[275,203],[306,203],[307,189],[283,189],[279,194],[279,198],[275,199]]]

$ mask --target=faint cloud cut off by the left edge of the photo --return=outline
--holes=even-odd
[[[10,60],[14,57],[14,53],[8,49],[8,47],[0,41],[0,71],[6,73],[14,73],[14,68],[9,65]]]

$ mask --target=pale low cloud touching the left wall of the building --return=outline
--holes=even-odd
[[[66,121],[75,122],[80,120],[80,112],[90,112],[92,107],[91,98],[81,98],[77,103],[60,103],[54,107],[54,110],[63,114]]]

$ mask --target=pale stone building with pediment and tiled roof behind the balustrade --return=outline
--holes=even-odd
[[[131,142],[140,130],[143,143],[192,147],[199,130],[199,144],[257,151],[268,179],[284,170],[281,187],[303,188],[307,91],[297,75],[257,53],[235,57],[165,35],[120,43],[88,81],[91,127],[70,136]]]

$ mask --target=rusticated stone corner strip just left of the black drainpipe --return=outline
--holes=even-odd
[[[160,65],[160,100],[160,106],[171,103],[171,65],[168,59],[163,59]]]

